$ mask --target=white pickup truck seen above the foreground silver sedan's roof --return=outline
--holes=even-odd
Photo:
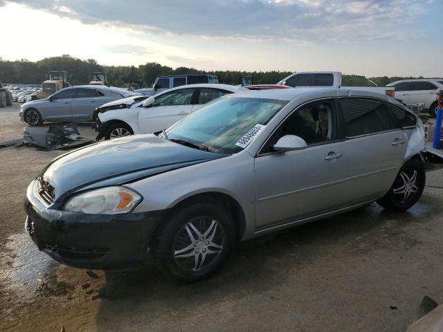
[[[341,73],[339,71],[300,71],[285,77],[277,84],[289,85],[293,88],[340,88],[358,91],[371,91],[395,98],[394,86],[341,86]]]

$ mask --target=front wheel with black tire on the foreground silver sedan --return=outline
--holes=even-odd
[[[226,262],[235,242],[230,214],[215,203],[195,203],[177,210],[156,232],[152,257],[165,275],[197,282]]]

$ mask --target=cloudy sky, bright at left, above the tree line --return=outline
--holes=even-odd
[[[0,57],[443,77],[443,0],[0,0]]]

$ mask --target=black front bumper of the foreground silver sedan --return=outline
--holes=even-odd
[[[42,203],[33,188],[31,183],[25,199],[25,229],[39,250],[75,268],[107,270],[143,264],[164,211],[70,212]]]

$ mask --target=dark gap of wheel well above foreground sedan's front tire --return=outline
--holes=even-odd
[[[204,192],[201,194],[197,194],[194,196],[190,196],[187,199],[177,203],[170,210],[168,214],[163,217],[163,220],[168,219],[172,214],[180,210],[185,206],[189,206],[194,203],[215,203],[217,205],[221,205],[226,208],[227,212],[230,212],[230,216],[233,218],[235,222],[235,227],[237,228],[237,240],[242,239],[244,230],[246,229],[246,218],[244,216],[244,212],[242,206],[228,194],[224,194],[221,192]],[[159,230],[159,226],[161,226],[162,222],[156,226],[156,231]],[[154,235],[155,236],[155,235]]]

